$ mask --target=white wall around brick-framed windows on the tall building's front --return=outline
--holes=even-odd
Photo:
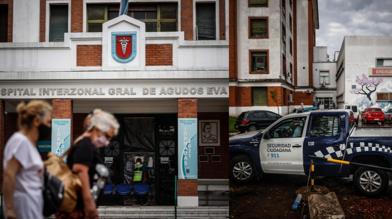
[[[268,7],[248,7],[248,1],[237,0],[238,79],[280,78],[280,13],[280,1],[269,1]],[[268,17],[268,39],[249,39],[249,17]],[[249,74],[249,50],[263,49],[269,50],[269,74]]]

